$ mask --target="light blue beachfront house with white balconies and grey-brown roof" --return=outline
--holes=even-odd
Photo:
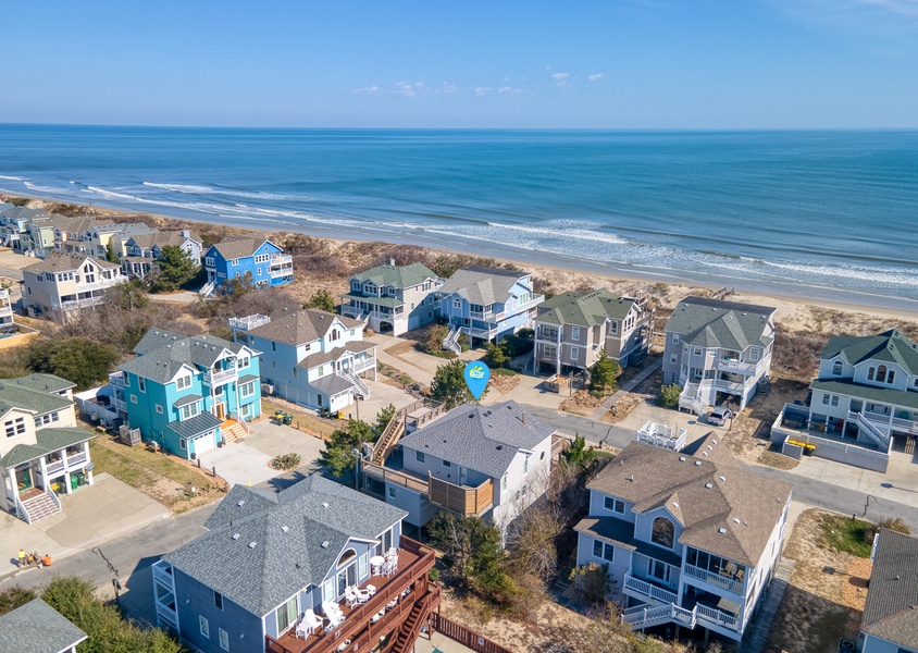
[[[545,295],[532,289],[532,273],[469,266],[457,270],[439,291],[439,315],[450,331],[443,345],[459,352],[460,333],[477,342],[499,342],[532,326]],[[474,342],[473,341],[473,342]]]

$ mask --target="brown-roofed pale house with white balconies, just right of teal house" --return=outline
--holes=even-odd
[[[310,308],[232,318],[230,328],[263,352],[262,381],[288,402],[336,412],[370,396],[361,377],[376,380],[376,345],[363,342],[363,322]]]

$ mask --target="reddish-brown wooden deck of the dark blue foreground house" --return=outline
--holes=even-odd
[[[379,645],[381,637],[390,634],[405,623],[419,601],[424,601],[427,609],[439,604],[439,587],[427,584],[427,572],[434,562],[433,549],[402,537],[398,572],[388,578],[370,577],[363,587],[372,584],[376,594],[362,605],[342,605],[345,620],[340,626],[331,632],[309,634],[306,639],[295,637],[293,628],[278,638],[266,636],[264,650],[268,653],[334,653],[350,640],[349,652],[371,651]],[[392,602],[395,602],[393,607],[387,608]],[[383,611],[383,618],[373,621],[372,617]]]

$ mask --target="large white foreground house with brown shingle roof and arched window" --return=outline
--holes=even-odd
[[[576,563],[606,566],[633,629],[743,639],[781,556],[791,485],[735,465],[712,434],[681,453],[632,442],[587,485]]]

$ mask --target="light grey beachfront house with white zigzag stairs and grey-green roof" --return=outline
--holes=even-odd
[[[683,387],[680,408],[703,415],[732,401],[740,409],[771,369],[774,311],[770,306],[686,297],[666,325],[663,384]]]

